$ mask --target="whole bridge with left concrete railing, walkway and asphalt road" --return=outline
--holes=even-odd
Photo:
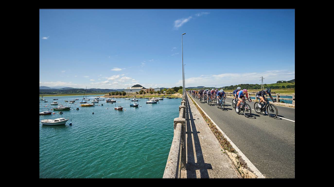
[[[163,177],[295,178],[295,108],[276,105],[275,119],[254,110],[246,118],[235,113],[232,98],[225,101],[225,109],[221,110],[216,104],[200,103],[188,94],[183,97],[180,116],[174,119],[174,139]],[[249,104],[254,108],[254,102]],[[245,174],[219,142],[218,147],[199,110],[219,128],[252,172]]]

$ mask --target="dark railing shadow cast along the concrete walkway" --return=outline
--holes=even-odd
[[[195,119],[193,119],[192,112],[190,109],[190,104],[187,98],[187,108],[186,108],[186,133],[187,133],[187,178],[197,178],[196,170],[199,170],[201,178],[209,178],[208,169],[212,169],[211,164],[205,163],[202,153],[201,144],[198,138],[198,131],[195,126]],[[191,131],[192,130],[192,131]],[[192,134],[192,136],[191,136]],[[192,142],[192,137],[194,138],[194,142]],[[197,162],[195,163],[194,156],[194,148],[193,143],[195,145],[196,158]]]

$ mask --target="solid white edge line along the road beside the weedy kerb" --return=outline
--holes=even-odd
[[[195,100],[194,100],[195,101]],[[197,104],[197,102],[195,101],[195,103]],[[214,121],[209,117],[209,115],[207,115],[204,110],[197,104],[197,106],[203,111],[203,113],[206,115],[206,117],[208,117],[212,123],[216,126],[216,128],[221,132],[221,134],[224,136],[224,138],[227,139],[227,141],[230,142],[230,144],[232,145],[232,147],[238,152],[239,156],[246,162],[247,166],[253,170],[254,174],[256,174],[258,176],[258,178],[266,178],[259,170],[258,168],[255,167],[255,165],[241,152],[241,150],[225,135],[225,133],[218,127],[218,125],[216,123],[214,123]]]

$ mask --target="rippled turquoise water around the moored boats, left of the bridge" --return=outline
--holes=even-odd
[[[88,95],[91,100],[87,102],[96,97]],[[64,102],[76,98],[79,100],[73,104]],[[130,100],[114,98],[121,101],[116,106],[123,106],[123,111],[105,100],[95,103],[104,106],[80,107],[82,96],[44,99],[48,102],[40,101],[40,112],[56,108],[50,105],[53,101],[79,110],[62,111],[60,115],[49,110],[56,114],[39,116],[39,121],[60,116],[72,123],[46,126],[39,122],[40,178],[162,178],[180,98],[157,104],[146,104],[141,98],[138,108],[130,107]]]

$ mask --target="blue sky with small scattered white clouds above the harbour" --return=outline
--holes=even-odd
[[[39,86],[229,86],[295,78],[295,10],[40,10]]]

